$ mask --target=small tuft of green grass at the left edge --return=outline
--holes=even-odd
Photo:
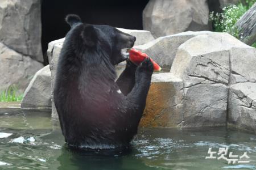
[[[5,91],[0,92],[0,101],[21,101],[23,95],[17,95],[17,91],[15,86],[10,86]]]

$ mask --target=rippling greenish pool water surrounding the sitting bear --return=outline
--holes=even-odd
[[[205,159],[209,147],[247,152],[250,163]],[[141,128],[129,151],[81,153],[68,150],[50,113],[1,113],[0,169],[256,169],[256,135],[225,128]]]

